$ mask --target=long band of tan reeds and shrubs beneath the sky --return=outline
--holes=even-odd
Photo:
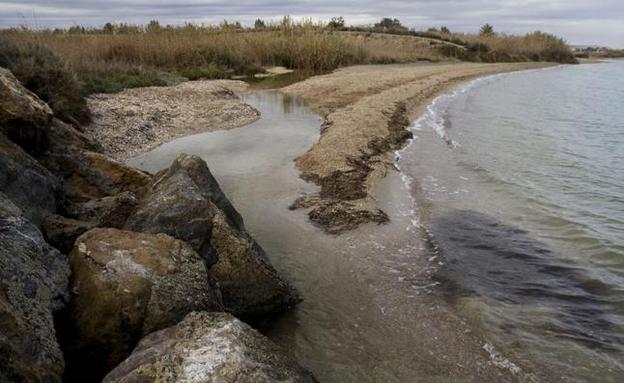
[[[264,66],[313,74],[346,65],[419,60],[574,61],[561,39],[540,32],[479,36],[295,23],[288,17],[257,24],[253,29],[227,22],[162,27],[153,21],[147,26],[0,30],[0,65],[13,70],[59,114],[76,118],[85,110],[76,97],[252,75]]]

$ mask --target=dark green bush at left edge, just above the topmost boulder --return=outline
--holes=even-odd
[[[41,44],[16,43],[0,36],[0,66],[13,72],[27,89],[47,102],[58,118],[70,122],[89,120],[76,76],[63,60]]]

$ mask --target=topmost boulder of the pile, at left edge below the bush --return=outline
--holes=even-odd
[[[52,120],[52,109],[5,69],[0,68],[0,132],[33,149],[45,146],[41,128]]]

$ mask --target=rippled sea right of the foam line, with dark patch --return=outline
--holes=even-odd
[[[399,153],[438,280],[562,380],[624,381],[622,100],[624,61],[492,76],[436,99]]]

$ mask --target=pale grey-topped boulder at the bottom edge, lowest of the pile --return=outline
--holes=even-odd
[[[143,338],[105,383],[316,382],[290,356],[226,313],[192,313]]]

